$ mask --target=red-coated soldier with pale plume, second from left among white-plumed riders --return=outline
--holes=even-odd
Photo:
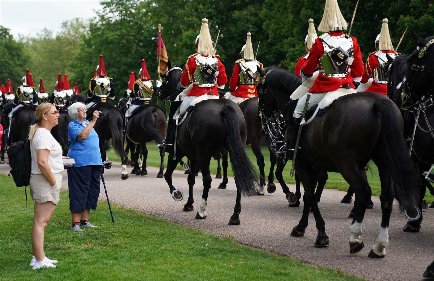
[[[239,105],[246,99],[258,96],[256,85],[259,82],[258,68],[263,69],[262,63],[255,59],[251,33],[247,33],[246,44],[240,52],[241,59],[235,61],[232,76],[229,81],[229,92],[224,96]]]

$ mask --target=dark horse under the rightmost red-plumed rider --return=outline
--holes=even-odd
[[[160,143],[166,136],[166,116],[163,110],[159,106],[152,104],[139,106],[128,118],[125,131],[128,147],[133,149],[135,145],[138,145],[143,155],[143,163],[140,171],[138,166],[138,153],[133,153],[132,150],[131,158],[135,162],[132,173],[136,175],[147,175],[146,159],[148,158],[148,149],[146,148],[146,142],[155,140],[157,143]],[[136,151],[138,151],[138,149],[136,149]],[[135,155],[134,159],[133,154]],[[164,151],[160,150],[160,156],[161,165],[157,178],[163,177]]]

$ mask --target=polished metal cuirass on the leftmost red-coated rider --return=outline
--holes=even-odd
[[[197,54],[194,57],[196,70],[194,71],[194,83],[199,87],[214,87],[217,85],[218,60],[215,56],[202,56]]]

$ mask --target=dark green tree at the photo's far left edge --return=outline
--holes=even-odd
[[[13,90],[21,85],[27,62],[23,44],[13,38],[9,29],[0,26],[0,85],[6,86],[7,79],[10,79]]]

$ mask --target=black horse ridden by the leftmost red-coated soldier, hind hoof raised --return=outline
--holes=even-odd
[[[161,101],[170,99],[181,92],[182,87],[179,82],[181,73],[182,69],[179,67],[168,68],[162,77],[163,83],[158,91],[158,98]],[[239,225],[241,193],[253,195],[258,187],[257,172],[245,151],[246,125],[240,107],[228,99],[199,102],[184,122],[178,126],[177,136],[176,155],[169,154],[167,169],[164,173],[164,179],[169,185],[174,200],[181,201],[184,196],[172,185],[172,173],[179,160],[187,156],[191,159],[191,169],[187,177],[189,195],[183,211],[193,211],[194,171],[199,168],[203,176],[204,191],[196,218],[206,218],[205,209],[211,186],[210,161],[213,155],[226,150],[229,152],[238,191],[229,224]]]

